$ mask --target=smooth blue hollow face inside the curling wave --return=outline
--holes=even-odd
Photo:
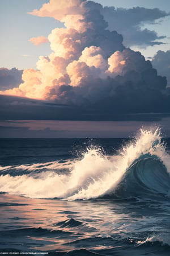
[[[126,170],[117,188],[119,196],[168,196],[170,176],[157,156],[143,155]]]

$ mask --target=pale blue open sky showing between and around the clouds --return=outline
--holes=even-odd
[[[39,9],[48,0],[1,0],[1,60],[0,66],[5,68],[35,68],[40,55],[50,53],[49,44],[42,44],[39,47],[29,42],[30,38],[36,36],[48,36],[55,27],[62,27],[63,24],[48,17],[38,17],[28,14],[33,9]],[[103,6],[114,6],[116,8],[130,9],[141,6],[148,9],[159,8],[170,11],[170,2],[167,0],[97,0]],[[155,30],[159,35],[170,37],[169,17],[164,18],[160,24],[147,24],[146,27]],[[159,49],[163,51],[169,49],[169,39],[165,39],[167,45],[140,48],[146,57],[153,56]]]

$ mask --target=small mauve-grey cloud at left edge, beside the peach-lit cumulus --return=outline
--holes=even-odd
[[[18,86],[22,82],[22,70],[16,68],[0,68],[0,90],[7,90]]]

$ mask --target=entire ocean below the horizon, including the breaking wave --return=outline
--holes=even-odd
[[[170,255],[170,139],[0,139],[0,254]]]

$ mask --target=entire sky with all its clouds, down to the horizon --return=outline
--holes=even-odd
[[[1,138],[170,136],[170,2],[0,0]]]

